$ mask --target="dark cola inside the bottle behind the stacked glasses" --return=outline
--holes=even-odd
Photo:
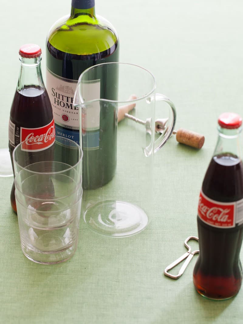
[[[52,119],[52,108],[46,89],[43,89],[39,86],[31,85],[25,86],[19,92],[15,92],[15,96],[10,110],[10,121],[13,124],[15,124],[15,131],[12,134],[12,138],[14,138],[14,144],[11,141],[9,141],[9,152],[11,156],[12,167],[13,150],[20,143],[21,127],[39,128],[50,123]],[[51,160],[53,156],[52,150],[53,148],[50,147],[47,150],[45,150],[45,153],[41,153],[41,151],[40,153],[29,152],[29,164],[38,162],[40,154],[48,155],[48,159],[50,158]],[[19,162],[21,164],[21,161]],[[17,213],[14,183],[10,194],[10,201],[12,209]]]

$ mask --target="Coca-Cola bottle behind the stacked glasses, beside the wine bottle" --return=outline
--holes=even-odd
[[[55,125],[52,107],[41,74],[41,49],[35,44],[26,44],[19,50],[20,72],[17,89],[12,102],[9,119],[9,152],[13,167],[13,150],[24,140],[40,135],[55,135]],[[54,143],[55,138],[52,138]],[[41,144],[40,144],[41,143]],[[31,151],[43,150],[52,155],[50,142],[39,142],[38,147],[29,145],[25,150],[30,151],[29,163],[38,161],[38,154]],[[50,157],[51,160],[51,157]],[[14,171],[14,168],[13,168]],[[17,213],[15,202],[15,185],[13,183],[11,206]]]

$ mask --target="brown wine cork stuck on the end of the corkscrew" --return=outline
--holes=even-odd
[[[176,140],[179,143],[189,145],[195,148],[202,148],[204,145],[204,136],[186,129],[180,128],[176,132]]]

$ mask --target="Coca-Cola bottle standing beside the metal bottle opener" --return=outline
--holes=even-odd
[[[219,116],[218,141],[199,196],[200,253],[193,282],[199,294],[211,299],[236,295],[242,282],[239,260],[243,237],[241,123],[241,117],[235,113]]]

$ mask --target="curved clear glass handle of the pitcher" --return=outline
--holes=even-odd
[[[159,149],[168,141],[168,139],[170,138],[170,136],[174,130],[175,121],[176,121],[176,109],[175,109],[173,102],[169,98],[167,98],[166,96],[164,96],[160,93],[156,93],[155,101],[165,101],[170,106],[171,109],[169,110],[169,119],[168,119],[167,125],[166,125],[163,133],[160,135],[160,137],[154,143],[154,153],[159,151]]]

